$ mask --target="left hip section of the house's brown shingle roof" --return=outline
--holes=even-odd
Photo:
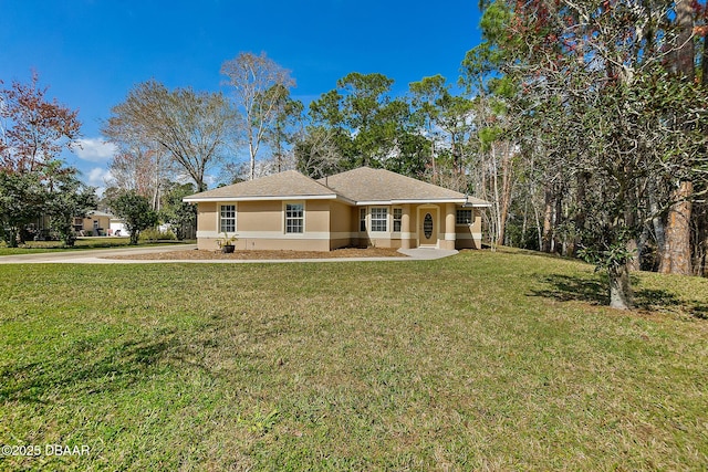
[[[310,177],[305,177],[295,170],[287,170],[220,187],[214,190],[202,191],[185,198],[185,201],[214,200],[214,199],[257,199],[278,197],[332,197],[336,195],[332,189],[317,183]]]

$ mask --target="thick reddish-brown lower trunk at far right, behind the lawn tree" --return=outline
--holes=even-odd
[[[689,198],[694,192],[690,181],[684,180],[673,192],[674,204],[668,210],[666,245],[662,254],[659,272],[663,274],[690,275],[690,212]]]

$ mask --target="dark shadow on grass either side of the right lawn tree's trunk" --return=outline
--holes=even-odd
[[[533,290],[529,296],[555,298],[560,302],[580,301],[592,305],[610,303],[608,283],[605,275],[586,279],[572,275],[553,274],[541,279],[542,289]],[[708,319],[708,305],[700,302],[680,300],[666,290],[637,287],[638,280],[632,279],[634,304],[645,311],[680,311],[695,318]]]

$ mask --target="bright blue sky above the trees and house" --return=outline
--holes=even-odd
[[[305,104],[350,72],[408,83],[459,76],[479,42],[477,1],[418,0],[0,0],[0,78],[40,74],[49,95],[80,111],[84,149],[66,155],[84,181],[104,187],[110,148],[101,120],[134,84],[222,90],[221,63],[266,52],[292,71]]]

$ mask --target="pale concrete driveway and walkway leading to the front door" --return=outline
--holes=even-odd
[[[196,244],[162,245],[155,248],[85,249],[75,251],[42,252],[39,254],[1,255],[0,264],[156,264],[156,263],[196,263],[196,264],[251,264],[283,262],[372,262],[372,261],[431,261],[457,254],[457,251],[441,249],[400,249],[407,258],[324,258],[324,259],[269,259],[269,260],[149,260],[149,259],[105,259],[114,255],[148,254],[170,251],[190,251]]]

